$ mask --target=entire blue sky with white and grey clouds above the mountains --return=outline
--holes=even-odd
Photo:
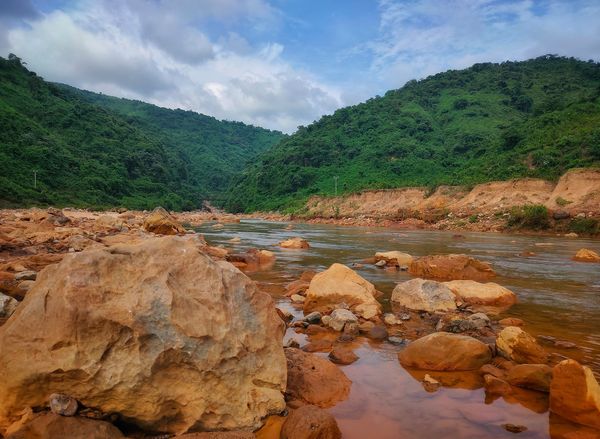
[[[0,0],[46,80],[291,133],[408,80],[600,60],[600,0]]]

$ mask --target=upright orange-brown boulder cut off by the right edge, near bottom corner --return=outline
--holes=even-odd
[[[550,411],[600,429],[600,385],[589,367],[564,360],[553,368]]]

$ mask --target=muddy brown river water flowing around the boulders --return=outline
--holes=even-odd
[[[524,329],[533,335],[575,343],[576,349],[545,347],[590,366],[600,377],[600,266],[570,259],[582,247],[600,251],[600,240],[490,233],[461,233],[462,237],[457,238],[454,232],[296,223],[287,230],[286,226],[252,220],[225,224],[222,229],[207,223],[197,230],[212,245],[223,244],[239,251],[251,247],[274,251],[277,260],[273,267],[248,274],[273,295],[277,306],[296,316],[301,310],[282,297],[282,292],[288,282],[306,270],[324,270],[334,262],[360,263],[377,251],[387,250],[413,256],[465,253],[488,261],[498,273],[495,282],[519,298],[519,303],[501,317],[523,319]],[[294,236],[307,239],[311,248],[277,247],[279,241]],[[241,238],[239,244],[228,242],[235,237]],[[535,255],[523,257],[523,252]],[[386,308],[395,284],[410,278],[404,272],[387,272],[367,264],[356,271],[384,292],[381,301]],[[301,343],[306,341],[289,329],[286,338],[291,336]],[[600,432],[551,415],[545,394],[517,391],[507,398],[490,399],[477,374],[438,372],[430,375],[444,386],[429,393],[420,382],[424,372],[407,371],[399,364],[397,353],[401,347],[362,338],[352,347],[360,359],[342,366],[352,380],[350,396],[329,409],[344,438],[514,437],[504,424],[527,427],[517,435],[520,438],[557,439],[577,433],[600,438]]]

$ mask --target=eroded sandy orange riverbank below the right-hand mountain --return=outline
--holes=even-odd
[[[536,206],[527,223],[524,206]],[[521,216],[521,217],[519,217]],[[310,198],[293,217],[313,224],[510,233],[600,233],[600,170],[574,169],[553,184],[540,179],[370,190]]]

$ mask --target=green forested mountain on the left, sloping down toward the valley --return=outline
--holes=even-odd
[[[0,58],[0,207],[198,208],[283,137],[49,83]]]

